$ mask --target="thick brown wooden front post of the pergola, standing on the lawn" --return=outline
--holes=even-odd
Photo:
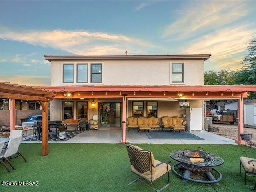
[[[40,101],[42,106],[42,156],[48,155],[48,102]]]

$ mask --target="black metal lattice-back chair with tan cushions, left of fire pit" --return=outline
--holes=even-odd
[[[155,160],[153,154],[149,150],[142,150],[138,146],[133,146],[131,144],[126,144],[126,149],[131,162],[131,171],[139,176],[128,185],[136,181],[140,181],[157,192],[162,191],[164,188],[169,186],[171,170],[170,160],[166,160],[164,162]],[[168,182],[164,187],[160,188],[159,190],[153,188],[148,183],[142,180],[143,178],[144,180],[152,184],[154,181],[158,180],[166,174],[168,174]]]

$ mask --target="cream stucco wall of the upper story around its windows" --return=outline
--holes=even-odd
[[[90,63],[102,63],[102,84],[104,85],[203,85],[203,60],[125,60],[125,61],[52,61],[51,85],[62,84],[63,63],[88,63],[88,83],[90,83]],[[171,82],[172,63],[184,63],[184,83]],[[76,80],[76,67],[74,79]],[[76,84],[76,83],[75,83]],[[65,84],[68,85],[68,84]]]

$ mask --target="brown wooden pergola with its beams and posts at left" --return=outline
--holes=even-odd
[[[25,85],[0,82],[0,98],[10,99],[10,131],[15,129],[15,100],[36,100],[42,106],[42,156],[48,155],[48,102],[56,96],[54,92]]]

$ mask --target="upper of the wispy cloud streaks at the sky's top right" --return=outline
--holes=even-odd
[[[186,2],[182,10],[176,12],[176,21],[164,29],[163,37],[174,36],[176,40],[188,39],[232,24],[248,14],[249,11],[245,6],[242,1]]]

